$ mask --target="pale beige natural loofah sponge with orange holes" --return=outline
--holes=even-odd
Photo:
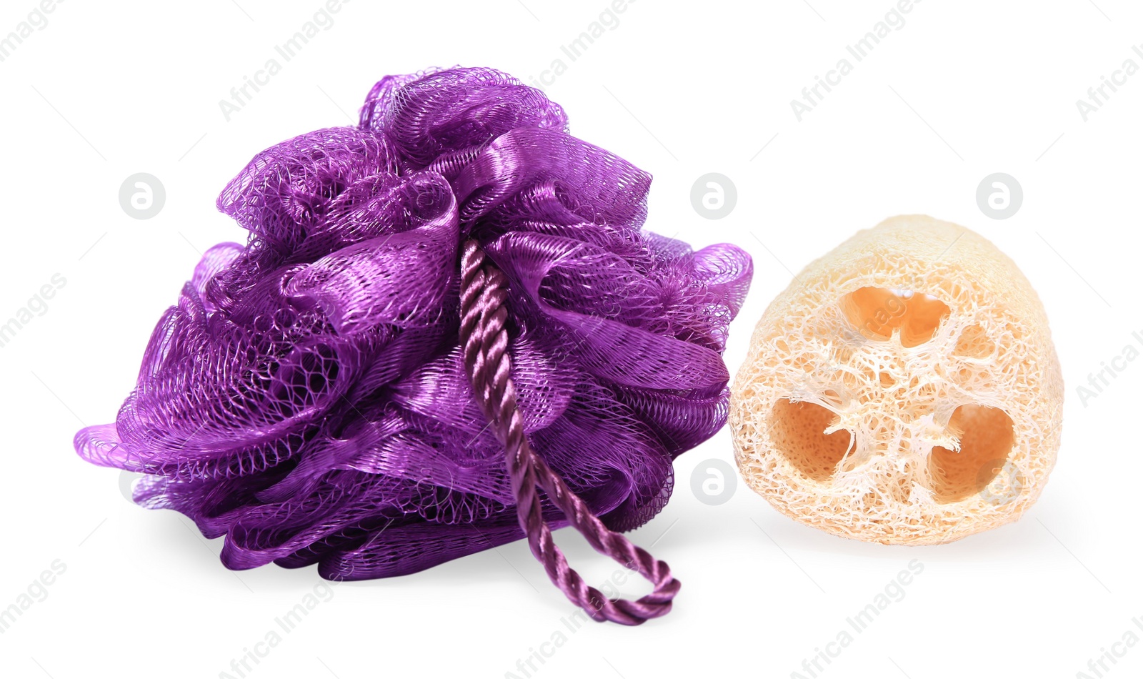
[[[1060,447],[1063,377],[1036,291],[976,233],[887,219],[766,310],[730,398],[735,458],[786,516],[886,544],[1017,519]]]

